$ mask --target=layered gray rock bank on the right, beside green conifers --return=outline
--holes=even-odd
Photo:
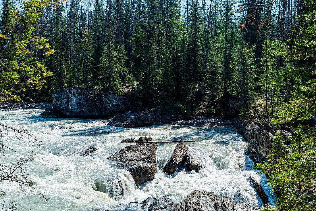
[[[266,157],[271,152],[272,140],[279,129],[272,125],[266,118],[261,118],[262,110],[256,108],[252,111],[254,114],[243,122],[237,124],[237,131],[248,141],[249,154],[253,155],[255,162],[266,161]],[[288,131],[280,131],[284,139],[292,136]]]

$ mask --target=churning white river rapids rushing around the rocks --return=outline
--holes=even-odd
[[[8,109],[0,111],[1,124],[16,129],[28,129],[43,146],[33,147],[17,141],[5,140],[19,153],[38,151],[27,164],[33,187],[45,194],[48,201],[39,198],[33,189],[21,189],[14,182],[0,182],[0,190],[6,193],[6,203],[16,201],[22,210],[39,211],[92,211],[92,210],[141,210],[139,203],[149,196],[160,198],[169,195],[179,203],[193,190],[213,191],[218,196],[229,196],[235,201],[242,199],[261,207],[262,201],[253,189],[252,175],[264,188],[269,203],[274,204],[266,177],[257,174],[253,162],[245,156],[248,146],[243,137],[233,128],[190,127],[156,125],[141,128],[111,127],[108,119],[71,119],[40,117],[43,109]],[[9,135],[13,135],[9,131]],[[207,153],[211,161],[198,173],[179,169],[168,176],[161,172],[164,163],[176,144],[158,144],[158,173],[153,181],[137,186],[131,174],[117,168],[106,158],[130,144],[120,144],[125,138],[150,136],[155,141],[195,140],[194,146]],[[82,156],[89,146],[97,150]],[[13,151],[0,155],[6,164],[18,156]]]

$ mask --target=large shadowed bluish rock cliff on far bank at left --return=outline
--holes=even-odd
[[[128,94],[121,96],[113,92],[100,92],[96,88],[70,87],[52,92],[52,108],[61,117],[99,118],[131,110]],[[135,103],[134,103],[135,104]],[[47,117],[43,112],[42,116]]]

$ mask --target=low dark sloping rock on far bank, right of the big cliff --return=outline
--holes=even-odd
[[[139,112],[123,127],[135,128],[146,127],[151,125],[165,124],[170,120],[168,112],[163,112],[160,108],[151,109],[149,111]]]

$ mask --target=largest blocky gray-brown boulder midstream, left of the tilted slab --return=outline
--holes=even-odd
[[[153,180],[156,168],[157,144],[136,144],[124,147],[108,157],[108,160],[119,161],[116,165],[128,170],[136,185]]]

